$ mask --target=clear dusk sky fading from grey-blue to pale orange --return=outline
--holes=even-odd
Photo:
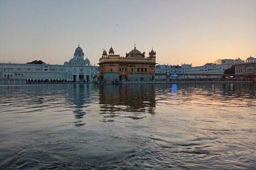
[[[154,48],[157,63],[202,66],[256,56],[255,0],[0,0],[0,63],[69,61],[80,44],[124,56]]]

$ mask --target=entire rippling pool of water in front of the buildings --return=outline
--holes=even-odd
[[[254,169],[256,84],[0,86],[0,169]]]

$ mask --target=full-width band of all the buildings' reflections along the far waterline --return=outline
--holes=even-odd
[[[156,104],[176,107],[254,106],[256,84],[34,84],[2,86],[1,112],[64,112],[74,115],[75,126],[85,125],[89,107],[99,103],[104,118],[143,118],[155,114]],[[248,100],[247,100],[248,99]],[[91,110],[90,110],[91,111]],[[94,110],[92,110],[94,111]],[[103,120],[104,121],[104,120]],[[113,121],[111,119],[107,121]]]

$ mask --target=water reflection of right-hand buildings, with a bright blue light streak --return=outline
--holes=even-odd
[[[255,106],[256,84],[157,84],[158,105],[177,106]]]

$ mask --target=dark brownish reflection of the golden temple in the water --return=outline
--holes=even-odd
[[[104,112],[148,112],[154,114],[154,84],[99,86],[99,104]]]

